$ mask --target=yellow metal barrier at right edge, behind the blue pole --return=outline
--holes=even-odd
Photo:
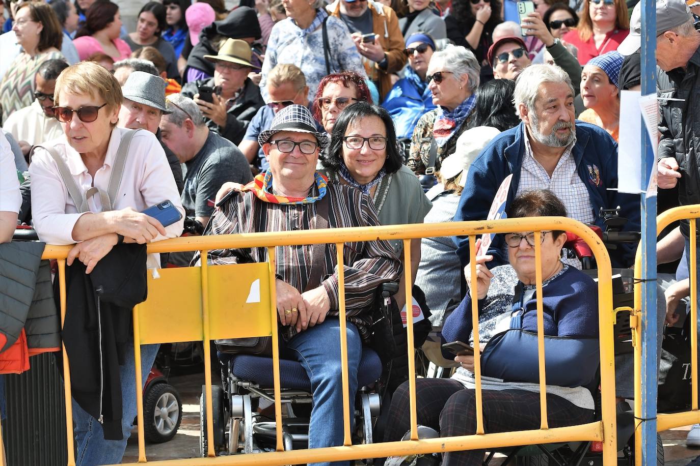
[[[678,412],[673,414],[657,414],[657,431],[667,430],[670,428],[681,427],[682,425],[690,425],[695,423],[700,423],[700,411],[698,410],[698,366],[697,366],[697,268],[694,264],[697,263],[697,244],[696,244],[696,233],[697,233],[697,219],[700,218],[700,205],[685,205],[682,207],[675,207],[673,209],[666,210],[665,212],[659,214],[657,217],[657,235],[661,233],[668,225],[672,224],[674,221],[679,221],[682,219],[687,219],[690,225],[690,250],[686,252],[690,259],[689,275],[690,275],[690,342],[691,342],[691,407],[689,411]],[[637,257],[635,261],[635,278],[637,284],[634,287],[634,312],[640,315],[642,308],[642,293],[641,293],[641,283],[639,282],[640,271],[641,271],[641,251],[637,250]],[[652,314],[647,314],[647,318],[655,319],[655,312],[659,312],[654,309]],[[640,319],[638,319],[640,321]],[[642,326],[637,325],[632,329],[634,333],[634,340],[636,342],[641,342],[641,332]],[[659,328],[659,332],[663,329]],[[641,423],[641,352],[642,348],[640,344],[636,344],[634,348],[634,412],[636,417],[635,425],[635,437],[636,437],[636,459],[637,464],[641,459],[641,444],[640,436],[641,430],[638,429]]]

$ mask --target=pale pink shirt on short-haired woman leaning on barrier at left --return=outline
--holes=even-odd
[[[87,173],[80,154],[66,141],[65,135],[45,145],[57,150],[71,170],[73,180],[76,180],[81,191],[87,191],[94,184],[106,192],[112,173],[112,163],[121,135],[125,131],[127,130],[122,128],[112,130],[104,165],[97,170],[94,180],[90,173]],[[39,238],[50,245],[73,244],[76,242],[72,235],[73,226],[80,216],[87,212],[78,213],[59,175],[55,161],[42,147],[36,147],[34,156],[31,158],[29,173],[31,175],[31,214]],[[180,194],[162,146],[153,133],[141,130],[132,139],[113,210],[132,207],[141,212],[162,201],[171,201],[183,215],[183,219],[165,228],[167,237],[158,235],[153,241],[181,235],[185,209],[182,207]],[[90,207],[90,212],[102,212],[99,196],[92,196],[87,201],[87,205]]]

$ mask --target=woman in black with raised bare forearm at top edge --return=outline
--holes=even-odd
[[[452,9],[444,18],[447,38],[455,45],[462,45],[472,50],[477,61],[489,65],[486,52],[493,41],[491,35],[496,24],[501,22],[500,0],[453,0]]]

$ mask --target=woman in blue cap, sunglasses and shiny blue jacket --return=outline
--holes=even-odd
[[[406,44],[408,66],[404,77],[393,85],[381,104],[393,118],[399,140],[410,140],[420,117],[435,109],[433,94],[426,81],[435,42],[428,34],[417,32],[407,39]]]

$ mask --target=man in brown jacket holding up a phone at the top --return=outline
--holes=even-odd
[[[384,99],[393,85],[391,73],[398,73],[406,64],[396,13],[372,0],[335,0],[326,8],[350,29],[367,76],[377,85],[380,99]]]

